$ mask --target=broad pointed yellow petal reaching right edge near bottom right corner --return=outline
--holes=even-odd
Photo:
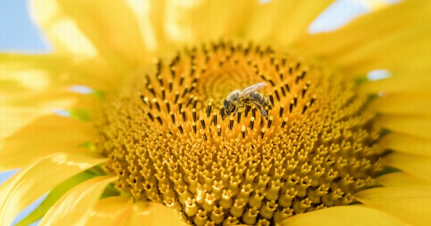
[[[382,187],[354,194],[367,206],[413,225],[431,225],[431,187]]]

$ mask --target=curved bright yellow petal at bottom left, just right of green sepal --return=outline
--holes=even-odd
[[[55,202],[40,225],[82,225],[90,217],[107,184],[115,179],[102,176],[83,181]]]

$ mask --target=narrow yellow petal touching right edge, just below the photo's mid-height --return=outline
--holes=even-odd
[[[431,139],[431,117],[427,116],[384,116],[381,125],[400,134]]]

